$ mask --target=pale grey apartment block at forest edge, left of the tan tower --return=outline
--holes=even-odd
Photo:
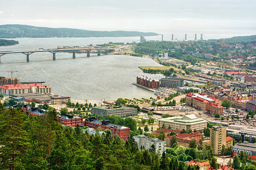
[[[148,137],[141,134],[141,135],[133,136],[133,139],[137,142],[138,149],[140,151],[141,151],[141,147],[145,147],[146,150],[149,150],[152,145],[155,146],[156,152],[159,152],[161,155],[166,150],[164,147],[165,141],[159,140],[157,138],[152,138],[152,137]]]

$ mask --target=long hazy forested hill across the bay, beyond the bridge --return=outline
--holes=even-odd
[[[158,33],[138,31],[92,31],[73,28],[47,28],[31,25],[0,25],[0,38],[50,38],[50,37],[134,37],[157,36]]]

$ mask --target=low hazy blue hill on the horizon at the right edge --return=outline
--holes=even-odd
[[[249,43],[256,41],[256,35],[253,36],[237,36],[232,38],[220,38],[220,39],[210,39],[208,41],[217,42],[221,41],[222,43]]]

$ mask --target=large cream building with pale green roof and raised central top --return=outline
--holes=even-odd
[[[176,117],[167,117],[163,119],[159,119],[159,127],[170,127],[171,129],[185,129],[187,132],[189,129],[192,131],[200,131],[207,127],[207,121],[198,118],[195,114],[186,115],[184,117],[176,116]]]

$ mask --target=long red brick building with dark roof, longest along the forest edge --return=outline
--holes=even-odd
[[[102,130],[110,129],[113,137],[115,136],[115,134],[117,134],[124,141],[128,140],[128,138],[130,137],[129,127],[113,124],[110,120],[99,121],[95,117],[90,117],[88,119],[85,119],[84,126],[88,126],[93,129],[97,129],[98,127],[100,127]]]

